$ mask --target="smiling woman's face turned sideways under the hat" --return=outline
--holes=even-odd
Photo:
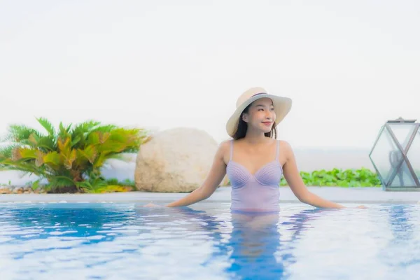
[[[252,127],[264,133],[270,132],[276,120],[272,99],[265,97],[255,100],[242,118],[248,124],[248,128]]]

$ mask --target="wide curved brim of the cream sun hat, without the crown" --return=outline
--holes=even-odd
[[[255,100],[261,98],[269,98],[272,99],[274,105],[274,112],[276,113],[276,125],[279,125],[281,120],[289,113],[290,109],[292,108],[292,99],[288,97],[279,97],[277,95],[272,94],[258,94],[246,100],[246,102],[242,103],[230,116],[228,123],[226,123],[226,132],[228,132],[230,137],[235,135],[238,125],[239,125],[239,117],[241,116],[242,111],[254,102]]]

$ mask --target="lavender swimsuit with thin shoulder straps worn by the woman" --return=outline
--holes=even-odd
[[[279,141],[276,159],[251,174],[243,165],[232,161],[233,140],[230,141],[230,160],[226,172],[232,185],[232,210],[279,211],[279,183],[283,174],[279,162]]]

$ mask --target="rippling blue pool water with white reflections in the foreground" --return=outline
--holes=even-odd
[[[420,279],[420,205],[0,204],[0,279]]]

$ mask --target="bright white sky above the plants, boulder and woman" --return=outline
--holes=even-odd
[[[420,120],[419,27],[414,0],[0,0],[0,134],[43,116],[222,141],[262,86],[293,99],[279,139],[370,148],[386,120]]]

